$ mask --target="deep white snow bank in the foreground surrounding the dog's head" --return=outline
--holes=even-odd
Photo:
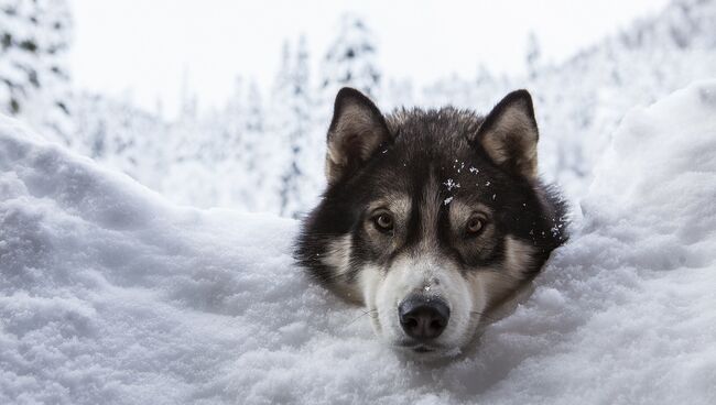
[[[290,258],[0,121],[0,403],[716,403],[716,81],[632,111],[535,294],[399,359]]]

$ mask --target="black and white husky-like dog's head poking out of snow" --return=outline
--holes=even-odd
[[[538,176],[527,90],[487,116],[453,107],[383,116],[338,91],[323,198],[295,258],[364,305],[378,337],[422,359],[464,352],[567,238],[566,205]]]

